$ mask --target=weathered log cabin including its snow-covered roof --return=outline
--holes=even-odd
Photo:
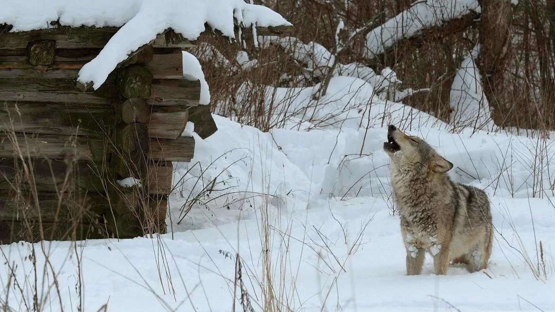
[[[216,130],[182,51],[291,24],[243,0],[31,2],[0,0],[0,243],[164,233],[186,123]]]

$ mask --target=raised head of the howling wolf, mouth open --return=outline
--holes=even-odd
[[[453,168],[421,138],[406,135],[394,125],[387,127],[387,142],[384,150],[391,159],[393,169],[420,168],[433,172],[447,172]]]

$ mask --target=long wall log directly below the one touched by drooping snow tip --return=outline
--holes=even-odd
[[[105,104],[0,103],[0,131],[105,137],[114,128],[113,109]]]

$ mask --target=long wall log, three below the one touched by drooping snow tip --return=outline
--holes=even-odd
[[[25,167],[24,167],[25,166]],[[100,164],[81,160],[0,159],[0,192],[8,190],[37,190],[39,192],[104,192],[105,174]],[[27,176],[24,169],[32,174]]]

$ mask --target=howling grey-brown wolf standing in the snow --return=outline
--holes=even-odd
[[[401,218],[407,275],[422,273],[425,253],[437,275],[450,261],[468,271],[486,269],[493,243],[490,201],[483,190],[453,183],[453,164],[418,137],[387,129],[393,198]]]

